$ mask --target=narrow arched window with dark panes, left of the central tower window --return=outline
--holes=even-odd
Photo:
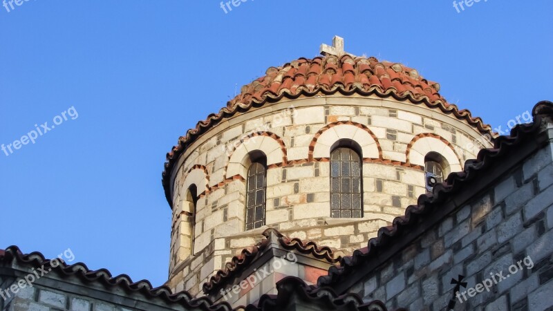
[[[247,170],[246,230],[265,225],[265,191],[267,179],[267,158],[263,153],[250,154],[250,168]]]

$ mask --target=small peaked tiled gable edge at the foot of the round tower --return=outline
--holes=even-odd
[[[277,229],[268,228],[263,231],[265,239],[256,245],[242,249],[239,255],[233,256],[231,261],[225,263],[225,268],[218,270],[209,281],[203,284],[203,292],[209,294],[215,292],[219,286],[225,284],[229,279],[232,279],[238,272],[243,271],[254,259],[258,258],[263,251],[271,244],[271,236],[275,236],[279,244],[285,249],[295,249],[301,254],[310,254],[318,259],[323,259],[329,263],[337,263],[341,256],[335,257],[332,249],[327,246],[319,247],[317,243],[301,241],[299,238],[288,238],[281,234]]]

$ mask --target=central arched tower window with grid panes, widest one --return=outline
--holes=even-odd
[[[342,142],[330,153],[330,216],[332,218],[363,217],[362,162],[361,156],[351,143],[345,146]]]

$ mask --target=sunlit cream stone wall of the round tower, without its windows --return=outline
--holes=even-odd
[[[332,144],[344,138],[362,147],[363,219],[330,218],[328,157]],[[226,258],[254,242],[252,232],[245,232],[244,159],[250,151],[261,150],[268,160],[266,225],[261,232],[274,227],[349,252],[350,237],[361,243],[361,238],[371,236],[344,229],[330,237],[316,233],[317,228],[344,220],[351,226],[360,220],[391,223],[426,191],[426,153],[442,154],[449,164],[447,172],[460,171],[482,147],[473,146],[475,141],[482,141],[480,133],[451,115],[379,97],[282,100],[233,117],[191,144],[171,174],[174,217],[168,285],[196,294],[200,282]],[[190,185],[198,187],[200,196],[194,241],[187,217]],[[244,243],[230,243],[229,237]],[[216,249],[216,241],[225,241],[224,246],[219,242],[222,249]],[[189,276],[197,269],[205,273]]]

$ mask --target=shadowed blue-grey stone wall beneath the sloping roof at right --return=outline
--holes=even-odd
[[[467,300],[457,297],[455,310],[552,310],[552,150],[538,151],[350,291],[388,308],[446,310],[451,280],[462,275]],[[489,291],[478,285],[486,279]]]

